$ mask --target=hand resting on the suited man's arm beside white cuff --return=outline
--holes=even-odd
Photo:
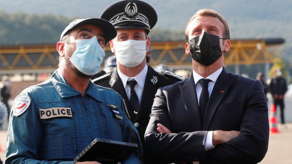
[[[240,131],[213,131],[212,144],[215,146],[221,143],[228,142],[237,137],[239,134]]]

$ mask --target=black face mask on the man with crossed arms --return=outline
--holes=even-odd
[[[222,55],[219,39],[223,38],[206,32],[191,39],[190,51],[192,58],[202,65],[212,65]]]

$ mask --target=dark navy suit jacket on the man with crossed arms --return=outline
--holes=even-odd
[[[145,145],[150,156],[166,163],[258,163],[268,148],[268,108],[258,80],[220,73],[210,95],[203,124],[194,78],[159,88],[155,95]],[[172,133],[158,133],[157,123]],[[207,131],[240,131],[224,144],[205,151]]]

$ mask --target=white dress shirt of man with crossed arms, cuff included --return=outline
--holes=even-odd
[[[221,67],[220,69],[218,69],[214,73],[212,73],[210,76],[206,77],[206,79],[212,80],[208,84],[209,97],[212,93],[215,82],[218,79],[218,76],[220,75],[222,70],[223,70],[223,68]],[[194,77],[194,81],[195,81],[198,104],[200,104],[200,96],[201,96],[201,92],[202,92],[202,86],[198,81],[200,79],[204,79],[204,78],[201,75],[199,75],[198,73],[196,73],[194,70],[193,70],[193,77]],[[212,135],[213,135],[213,131],[208,131],[206,142],[205,142],[205,150],[210,150],[210,149],[214,148],[213,143],[212,143]]]

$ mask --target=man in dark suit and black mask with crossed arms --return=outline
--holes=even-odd
[[[223,68],[230,47],[225,19],[199,10],[185,34],[193,72],[158,89],[145,132],[150,157],[160,163],[260,162],[269,138],[263,85]]]

